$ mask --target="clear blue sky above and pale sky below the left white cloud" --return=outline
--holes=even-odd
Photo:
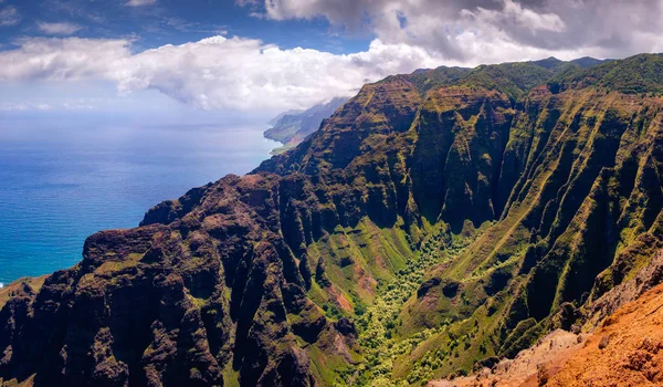
[[[255,13],[261,11],[260,6],[242,7],[227,0],[158,0],[136,7],[129,6],[126,0],[4,0],[0,1],[0,14],[3,9],[13,11],[13,18],[10,17],[0,27],[0,51],[4,52],[19,49],[25,39],[42,36],[126,39],[130,41],[130,51],[139,53],[166,44],[178,45],[223,35],[260,40],[285,50],[304,46],[345,54],[367,50],[372,39],[366,29],[348,32],[322,17],[276,21],[257,17]],[[6,114],[14,115],[80,115],[94,111],[122,112],[131,117],[154,114],[155,109],[178,115],[188,114],[191,109],[191,106],[165,98],[156,91],[118,95],[115,84],[104,80],[6,80],[3,90],[0,111],[4,106]],[[233,109],[230,111],[232,113]],[[265,116],[276,111],[270,109]],[[229,109],[222,109],[222,114],[228,116]],[[213,114],[206,115],[214,118]]]

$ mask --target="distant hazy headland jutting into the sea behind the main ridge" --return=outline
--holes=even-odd
[[[267,129],[264,136],[284,146],[274,149],[273,153],[283,153],[302,143],[306,136],[320,127],[323,119],[329,118],[346,101],[347,98],[337,97],[307,111],[288,111],[274,117],[270,121],[273,127]]]

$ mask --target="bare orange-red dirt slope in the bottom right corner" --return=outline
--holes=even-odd
[[[556,331],[515,359],[429,386],[663,386],[663,284],[620,307],[588,336]]]

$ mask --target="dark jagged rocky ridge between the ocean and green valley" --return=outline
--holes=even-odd
[[[164,223],[90,237],[78,265],[2,308],[0,373],[36,374],[35,385],[209,386],[224,373],[243,385],[312,385],[294,332],[315,343],[322,330],[341,339],[348,330],[338,333],[305,297],[311,273],[288,248],[295,237],[280,230],[281,208],[284,222],[297,222],[285,208],[312,195],[302,185],[229,176],[196,208],[160,205],[144,221]]]

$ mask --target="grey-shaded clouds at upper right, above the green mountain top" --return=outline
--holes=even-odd
[[[662,51],[662,0],[238,0],[272,20],[327,19],[386,44],[466,64],[548,52],[623,57]],[[490,54],[485,53],[488,49]],[[514,48],[520,51],[517,55]],[[504,49],[504,50],[503,50]],[[505,54],[498,54],[504,51]],[[512,55],[516,54],[516,55]]]

